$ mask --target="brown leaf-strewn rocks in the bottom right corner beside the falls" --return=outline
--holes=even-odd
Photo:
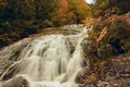
[[[83,69],[76,77],[80,87],[130,87],[130,57],[118,55],[95,62],[93,69]]]

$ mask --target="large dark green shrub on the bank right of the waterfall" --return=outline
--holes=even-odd
[[[107,33],[103,39],[98,42],[96,39],[104,27],[107,27]],[[96,24],[89,34],[88,40],[91,41],[91,44],[87,46],[86,53],[94,58],[107,59],[112,55],[130,52],[129,27],[130,25],[123,18],[103,21]],[[93,46],[93,48],[91,48],[91,46]]]

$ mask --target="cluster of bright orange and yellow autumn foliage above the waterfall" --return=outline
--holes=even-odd
[[[61,0],[53,21],[55,25],[79,24],[88,16],[91,11],[84,0]]]

